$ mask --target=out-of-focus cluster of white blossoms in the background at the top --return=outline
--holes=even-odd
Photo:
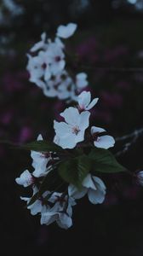
[[[30,81],[37,84],[45,96],[75,100],[88,85],[86,73],[74,75],[68,70],[69,67],[66,68],[66,46],[61,40],[72,37],[76,29],[77,24],[74,23],[59,26],[54,40],[47,38],[43,32],[41,41],[27,55]]]

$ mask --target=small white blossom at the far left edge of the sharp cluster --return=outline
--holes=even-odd
[[[28,170],[26,170],[21,173],[20,177],[15,178],[15,182],[24,187],[28,187],[34,183],[34,177]]]

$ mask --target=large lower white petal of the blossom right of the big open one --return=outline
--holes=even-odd
[[[99,137],[98,141],[94,141],[94,146],[97,148],[112,148],[114,147],[115,140],[112,136],[101,136]]]

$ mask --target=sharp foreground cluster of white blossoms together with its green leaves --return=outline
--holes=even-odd
[[[102,203],[105,199],[106,185],[94,175],[93,164],[100,170],[99,161],[103,164],[109,157],[105,148],[113,147],[115,141],[105,135],[104,129],[89,127],[89,110],[97,102],[98,98],[91,101],[90,92],[83,91],[77,97],[75,108],[66,108],[60,113],[65,121],[54,120],[54,143],[44,142],[39,135],[37,142],[30,145],[31,149],[37,150],[31,150],[34,170],[26,170],[15,180],[24,187],[31,187],[31,198],[20,198],[26,201],[32,215],[40,213],[41,224],[56,221],[61,228],[68,229],[72,226],[72,207],[78,199],[88,195],[93,204]],[[84,148],[89,147],[92,150],[87,154]],[[96,148],[95,154],[93,148]],[[99,148],[104,149],[100,151]],[[109,162],[112,168],[111,160]],[[106,170],[107,162],[103,166],[101,172]],[[117,168],[121,168],[119,164]]]

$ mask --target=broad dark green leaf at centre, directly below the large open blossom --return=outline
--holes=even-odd
[[[72,160],[61,163],[58,170],[60,177],[67,183],[72,183],[77,188],[81,188],[84,177],[90,171],[91,160],[86,155],[80,155]]]

